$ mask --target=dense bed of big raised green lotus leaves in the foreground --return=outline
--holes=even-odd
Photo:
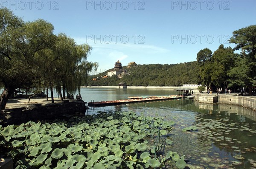
[[[163,164],[154,158],[148,140],[159,130],[167,134],[173,124],[130,112],[104,112],[51,124],[30,121],[20,126],[0,126],[0,155],[13,158],[15,168],[158,168]],[[170,145],[168,141],[166,146]],[[172,158],[178,168],[186,165],[176,152],[166,157]]]

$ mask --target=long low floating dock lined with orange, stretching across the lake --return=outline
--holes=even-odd
[[[157,97],[150,97],[150,98],[149,97],[147,97],[147,98],[138,98],[137,97],[137,99],[89,102],[88,106],[101,107],[101,106],[136,103],[136,102],[143,102],[143,101],[157,101],[157,100],[169,100],[169,99],[181,99],[181,98],[182,98],[182,96],[157,96]]]

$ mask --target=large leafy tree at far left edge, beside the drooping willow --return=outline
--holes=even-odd
[[[7,8],[0,8],[0,99],[4,109],[17,88],[36,87],[40,81],[35,55],[51,45],[53,26],[44,21],[24,23]]]

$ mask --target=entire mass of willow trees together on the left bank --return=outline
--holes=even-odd
[[[98,68],[97,62],[87,61],[89,45],[76,45],[74,39],[53,31],[45,20],[23,22],[0,8],[0,82],[9,88],[4,98],[8,100],[17,88],[30,92],[46,87],[55,88],[62,97],[65,90],[79,90],[88,73]],[[0,109],[2,102],[4,108],[7,101],[1,100]]]

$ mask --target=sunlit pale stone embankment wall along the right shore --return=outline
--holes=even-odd
[[[236,96],[234,94],[195,93],[195,100],[199,103],[233,104],[256,111],[256,96]]]

